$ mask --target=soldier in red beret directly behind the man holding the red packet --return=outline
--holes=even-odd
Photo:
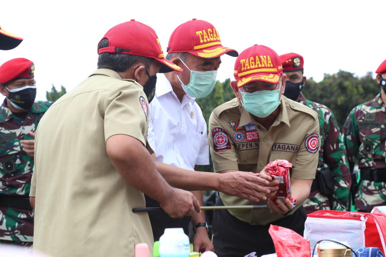
[[[320,103],[307,100],[301,93],[306,77],[303,76],[303,57],[288,53],[280,56],[283,72],[287,74],[284,96],[298,101],[318,113],[320,126],[320,150],[317,172],[329,169],[331,176],[330,196],[323,195],[317,174],[313,181],[310,196],[304,202],[306,213],[317,210],[345,211],[349,206],[351,176],[346,150],[338,123],[332,111]],[[331,206],[332,205],[332,206]]]

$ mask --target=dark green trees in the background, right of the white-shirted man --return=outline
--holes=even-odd
[[[339,127],[342,128],[347,115],[352,108],[374,98],[380,91],[380,86],[372,73],[358,78],[354,73],[339,71],[335,74],[325,74],[322,81],[315,82],[312,78],[307,79],[303,94],[308,100],[326,105],[332,110]],[[230,87],[230,79],[225,79],[223,83],[216,82],[212,93],[205,98],[196,98],[196,102],[201,107],[205,121],[209,122],[210,114],[218,105],[225,103],[235,97]],[[210,165],[200,166],[200,171],[213,172],[212,158]]]

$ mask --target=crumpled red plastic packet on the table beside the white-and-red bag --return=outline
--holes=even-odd
[[[272,237],[278,257],[311,256],[310,240],[305,239],[295,231],[271,225],[268,232]]]

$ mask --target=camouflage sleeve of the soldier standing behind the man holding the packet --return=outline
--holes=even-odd
[[[343,137],[334,114],[327,122],[323,159],[334,176],[332,210],[345,211],[349,205],[351,176]]]

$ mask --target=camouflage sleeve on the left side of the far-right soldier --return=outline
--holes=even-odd
[[[361,144],[355,118],[355,109],[353,109],[350,112],[349,117],[347,117],[343,126],[342,134],[344,137],[344,144],[347,151],[347,160],[349,162],[350,171],[353,171],[358,155],[359,145]]]

